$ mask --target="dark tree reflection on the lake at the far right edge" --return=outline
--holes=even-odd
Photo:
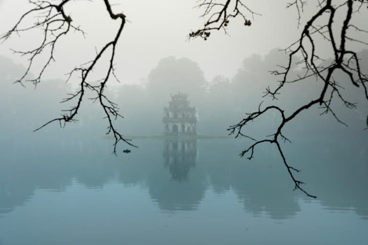
[[[364,135],[353,134],[335,135],[334,140],[308,140],[304,149],[319,150],[313,150],[311,162],[298,159],[298,165],[310,165],[303,171],[303,177],[311,180],[311,189],[320,196],[321,205],[330,210],[354,210],[368,217],[368,140]],[[339,140],[342,137],[344,141]]]

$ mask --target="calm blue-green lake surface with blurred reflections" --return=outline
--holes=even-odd
[[[368,141],[0,140],[0,244],[368,244]]]

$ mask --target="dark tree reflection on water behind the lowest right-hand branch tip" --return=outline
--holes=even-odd
[[[271,218],[283,219],[300,211],[280,162],[274,162],[268,154],[270,149],[264,147],[254,161],[244,162],[234,154],[238,144],[239,141],[216,140],[201,146],[201,158],[211,159],[206,161],[205,169],[214,190],[233,190],[244,209],[254,215],[265,212]]]

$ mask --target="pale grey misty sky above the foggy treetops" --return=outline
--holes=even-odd
[[[27,0],[0,1],[0,33],[4,33],[30,6]],[[127,84],[139,83],[147,78],[161,58],[167,56],[188,57],[196,61],[208,81],[219,74],[233,77],[244,58],[255,53],[265,55],[273,48],[286,47],[297,39],[300,33],[297,30],[297,14],[295,9],[285,8],[288,1],[243,2],[262,14],[255,16],[250,27],[245,27],[239,19],[229,26],[231,36],[218,31],[213,32],[207,41],[188,41],[188,33],[200,28],[204,22],[198,18],[201,10],[193,8],[196,0],[111,1],[119,4],[114,6],[114,11],[122,11],[130,21],[123,30],[115,60],[119,79]],[[309,1],[305,17],[310,16],[308,10],[315,10],[315,6],[316,1]],[[72,16],[73,23],[80,25],[88,35],[86,39],[81,35],[63,38],[63,42],[56,47],[57,62],[44,78],[64,78],[63,74],[74,65],[91,60],[95,47],[99,49],[104,42],[111,40],[118,28],[117,21],[109,19],[100,0],[71,2],[65,10]],[[248,17],[251,18],[250,15]],[[20,38],[14,36],[0,45],[0,55],[26,64],[25,57],[12,55],[9,48],[34,46],[39,38],[37,33]]]

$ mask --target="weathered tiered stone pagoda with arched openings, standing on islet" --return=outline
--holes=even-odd
[[[189,107],[188,94],[171,95],[169,107],[164,108],[164,132],[167,135],[197,134],[196,108]]]

